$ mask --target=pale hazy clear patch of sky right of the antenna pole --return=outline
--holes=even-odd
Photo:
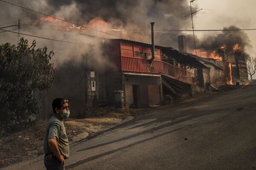
[[[256,0],[195,0],[194,6],[203,8],[194,18],[195,29],[222,29],[228,26],[256,28]],[[245,31],[251,41],[247,53],[256,54],[256,30]],[[196,32],[200,38],[207,32]],[[218,34],[220,31],[212,32]]]

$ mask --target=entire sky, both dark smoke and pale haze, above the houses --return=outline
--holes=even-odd
[[[40,11],[64,20],[78,23],[82,26],[127,37],[142,42],[151,41],[150,23],[155,22],[155,30],[163,29],[191,29],[191,17],[184,17],[190,13],[189,0],[6,0],[26,8]],[[222,28],[256,28],[254,20],[255,0],[195,0],[193,10],[203,8],[194,15],[195,29],[222,29]],[[0,2],[0,27],[5,23],[17,21],[22,23],[40,24],[48,26],[21,26],[20,32],[58,40],[93,43],[92,39],[82,36],[79,31],[56,31],[49,25],[72,26],[68,23],[53,20],[51,22],[39,20],[41,14],[23,10]],[[95,20],[96,18],[96,20]],[[100,22],[97,22],[100,21]],[[95,23],[96,22],[96,23]],[[6,28],[7,29],[7,28]],[[9,28],[11,29],[11,28]],[[115,29],[113,31],[112,29]],[[116,29],[128,29],[117,31]],[[112,31],[111,31],[112,30]],[[143,30],[143,31],[134,31]],[[256,31],[236,32],[195,32],[198,48],[215,50],[221,45],[241,43],[241,47],[252,56],[256,54]],[[99,37],[113,37],[96,31],[84,30],[82,33]],[[155,44],[177,48],[177,35],[187,36],[187,46],[193,47],[192,32],[156,32]],[[0,43],[17,43],[17,35],[0,33]],[[29,40],[36,38],[25,37]],[[62,58],[70,55],[81,56],[86,50],[77,45],[64,42],[52,42],[36,39],[38,45],[47,45]],[[219,44],[218,44],[219,43]],[[86,46],[86,45],[84,45]],[[212,48],[212,49],[210,49]],[[192,49],[191,49],[192,50]],[[74,52],[75,51],[75,52]],[[60,57],[58,57],[60,59]]]

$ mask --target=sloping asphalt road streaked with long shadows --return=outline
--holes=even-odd
[[[137,114],[71,146],[66,169],[256,169],[256,85]],[[3,169],[43,170],[43,156]]]

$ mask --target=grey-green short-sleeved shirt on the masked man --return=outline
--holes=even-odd
[[[69,157],[69,143],[63,120],[55,115],[49,119],[44,136],[44,154],[53,154],[48,139],[56,139],[61,155],[65,159]]]

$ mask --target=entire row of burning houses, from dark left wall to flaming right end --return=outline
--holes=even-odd
[[[99,105],[114,105],[114,91],[122,91],[123,107],[145,108],[163,105],[166,89],[193,96],[204,93],[202,88],[208,90],[210,85],[246,81],[244,56],[239,51],[230,54],[219,49],[210,57],[198,53],[199,57],[154,45],[152,57],[152,45],[148,43],[94,38],[101,52],[95,54],[92,45],[80,62],[70,60],[59,68],[61,74],[56,76],[56,84],[43,102],[47,111],[42,113],[50,113],[47,105],[54,96],[61,95],[58,89],[63,85],[68,91],[61,93],[70,99],[73,116],[84,117],[92,116],[92,110]],[[101,55],[100,60],[97,55]]]

